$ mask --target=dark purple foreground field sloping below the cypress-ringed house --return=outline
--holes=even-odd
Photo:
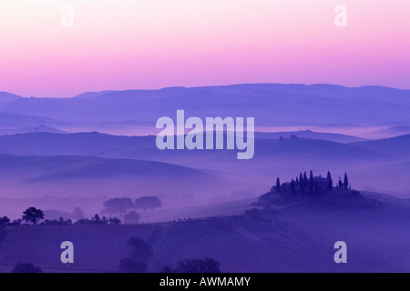
[[[220,216],[190,219],[189,212],[182,212],[179,221],[138,226],[9,227],[0,248],[0,271],[26,262],[45,272],[117,272],[119,261],[130,252],[130,236],[144,238],[152,247],[149,272],[205,257],[219,261],[223,272],[410,271],[410,204],[405,200],[334,194],[221,216],[227,206],[220,206]],[[71,266],[59,261],[59,246],[66,240],[75,246]],[[333,262],[333,245],[340,240],[348,246],[348,263],[343,265]]]

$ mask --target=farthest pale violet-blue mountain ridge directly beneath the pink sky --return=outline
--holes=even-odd
[[[85,93],[75,98],[15,98],[0,112],[78,122],[155,122],[187,115],[253,116],[257,125],[410,124],[410,90],[381,86],[225,85]]]

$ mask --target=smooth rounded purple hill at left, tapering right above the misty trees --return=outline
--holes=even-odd
[[[160,162],[0,155],[0,198],[4,201],[0,213],[9,216],[20,212],[23,201],[27,206],[36,202],[45,209],[71,211],[83,200],[90,206],[88,200],[96,197],[159,196],[164,207],[192,206],[223,201],[226,193],[240,189],[241,183],[230,178]],[[69,197],[77,198],[73,204],[62,203]],[[84,209],[87,213],[101,210],[101,203]]]

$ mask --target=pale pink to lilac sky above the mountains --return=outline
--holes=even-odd
[[[74,8],[63,27],[61,6]],[[335,5],[347,27],[335,27]],[[410,89],[408,0],[6,0],[0,91],[238,83]]]

